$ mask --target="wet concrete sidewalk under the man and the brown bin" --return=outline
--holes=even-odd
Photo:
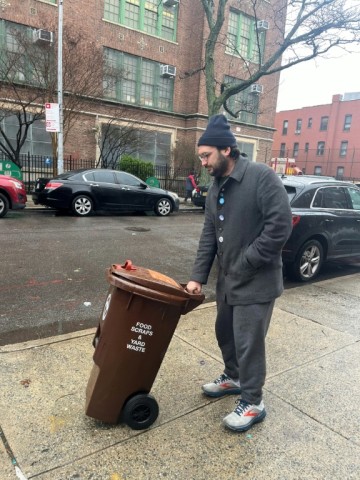
[[[286,290],[267,339],[268,415],[242,434],[222,426],[234,397],[201,394],[222,371],[213,303],[180,319],[144,431],[84,414],[94,329],[0,347],[0,479],[358,479],[359,313],[360,274]]]

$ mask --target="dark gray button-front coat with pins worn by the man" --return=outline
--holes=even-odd
[[[191,280],[206,284],[217,257],[218,300],[273,300],[283,291],[281,250],[291,229],[288,196],[277,174],[239,158],[227,180],[221,185],[215,179],[209,189]]]

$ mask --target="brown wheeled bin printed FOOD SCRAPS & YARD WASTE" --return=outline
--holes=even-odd
[[[86,415],[106,423],[148,428],[159,407],[149,393],[180,315],[204,295],[130,260],[107,269],[110,284],[94,337],[94,365],[86,389]]]

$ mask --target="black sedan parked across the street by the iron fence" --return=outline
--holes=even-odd
[[[35,204],[85,217],[94,211],[154,211],[166,216],[179,209],[176,193],[150,187],[119,170],[73,170],[48,181],[38,179]]]

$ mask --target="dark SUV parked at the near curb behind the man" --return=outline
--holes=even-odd
[[[293,230],[282,254],[286,275],[307,282],[326,260],[360,260],[360,188],[330,177],[281,179],[293,216]]]

